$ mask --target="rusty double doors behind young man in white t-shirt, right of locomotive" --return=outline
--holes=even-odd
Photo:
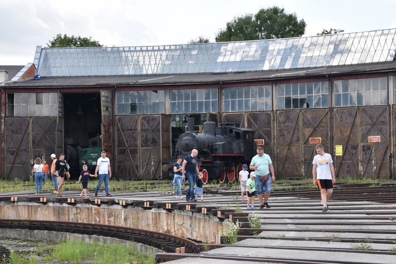
[[[310,137],[320,137],[330,152],[329,108],[279,110],[276,112],[278,132],[278,173],[286,178],[312,177],[312,160],[316,155]]]

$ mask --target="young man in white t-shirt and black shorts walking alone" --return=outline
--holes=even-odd
[[[329,211],[327,201],[329,201],[332,196],[333,184],[336,183],[333,159],[330,154],[325,153],[322,144],[317,144],[315,149],[317,155],[312,161],[313,185],[318,186],[320,190],[320,197],[323,205],[322,212],[327,212]]]

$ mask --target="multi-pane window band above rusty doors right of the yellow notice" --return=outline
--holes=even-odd
[[[334,106],[388,103],[386,77],[334,81]]]

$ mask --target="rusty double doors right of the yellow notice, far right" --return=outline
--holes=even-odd
[[[389,106],[334,109],[334,144],[342,145],[335,157],[336,177],[389,178]],[[380,136],[380,143],[369,143]]]

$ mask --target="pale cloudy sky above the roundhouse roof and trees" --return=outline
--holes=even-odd
[[[214,42],[234,17],[272,6],[304,19],[304,36],[396,28],[396,0],[10,0],[0,1],[0,65],[33,62],[36,46],[58,33],[91,36],[109,47],[186,44],[198,36]]]

